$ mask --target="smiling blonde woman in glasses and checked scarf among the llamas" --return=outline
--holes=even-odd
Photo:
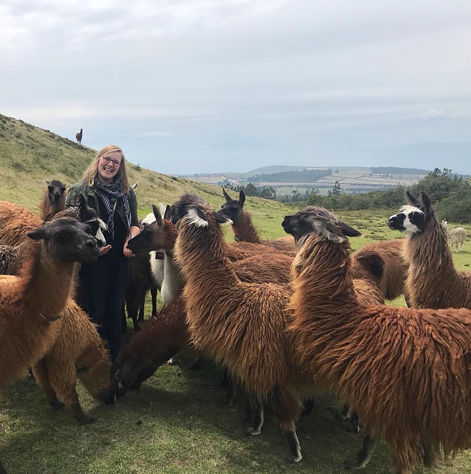
[[[121,347],[121,306],[129,276],[128,257],[134,256],[126,246],[140,232],[137,198],[129,186],[126,162],[119,147],[108,145],[98,152],[82,180],[70,187],[66,207],[77,205],[80,195],[108,225],[100,257],[93,264],[82,264],[79,275],[88,316],[98,325],[100,336],[108,341],[114,360]]]

